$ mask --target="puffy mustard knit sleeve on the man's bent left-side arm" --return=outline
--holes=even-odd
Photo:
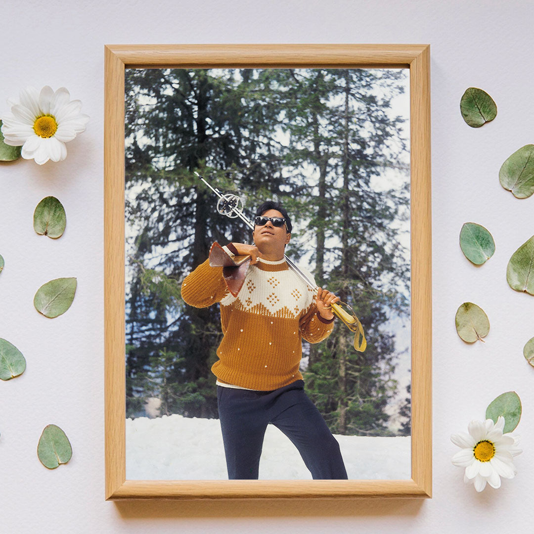
[[[195,308],[207,308],[228,293],[222,267],[210,267],[209,259],[188,274],[182,282],[182,298]]]

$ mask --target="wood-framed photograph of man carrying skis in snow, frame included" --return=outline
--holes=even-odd
[[[429,68],[428,45],[105,47],[106,499],[431,496]],[[214,242],[264,256],[235,294]],[[342,474],[281,404],[238,446],[259,471],[232,471],[230,399],[284,388]]]

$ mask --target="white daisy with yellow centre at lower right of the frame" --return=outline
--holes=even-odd
[[[476,491],[482,491],[488,483],[492,488],[500,487],[500,477],[514,478],[517,473],[513,457],[520,454],[517,448],[519,437],[511,433],[502,434],[504,417],[496,423],[491,419],[471,421],[464,432],[453,434],[451,441],[461,447],[454,454],[452,463],[465,467],[464,482],[474,484]]]

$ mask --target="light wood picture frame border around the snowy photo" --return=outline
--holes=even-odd
[[[407,480],[126,480],[125,68],[407,68],[410,72],[411,478]],[[105,47],[106,499],[431,497],[430,50],[412,44],[108,45]]]

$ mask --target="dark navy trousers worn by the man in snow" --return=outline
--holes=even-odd
[[[346,479],[339,444],[298,380],[274,391],[217,386],[219,420],[230,480],[258,478],[269,423],[297,447],[314,479]]]

